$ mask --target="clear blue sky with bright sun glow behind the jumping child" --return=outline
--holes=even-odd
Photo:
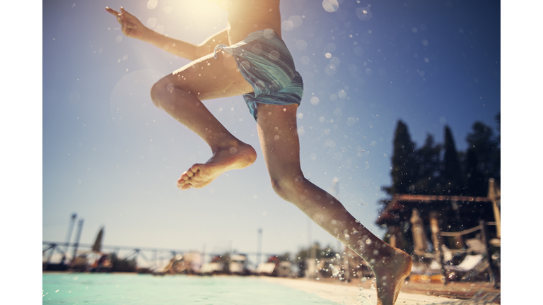
[[[201,190],[175,181],[209,148],[153,106],[153,82],[188,63],[124,37],[105,6],[197,44],[226,28],[207,1],[47,1],[42,8],[42,239],[64,241],[71,213],[84,218],[81,242],[105,226],[104,243],[186,250],[296,253],[311,238],[337,241],[272,191],[242,97],[206,102],[259,158]],[[201,5],[199,5],[201,4]],[[204,7],[203,5],[207,6]],[[153,5],[149,6],[153,7]],[[371,16],[361,16],[360,11]],[[375,234],[380,187],[391,184],[397,121],[417,144],[458,150],[474,121],[496,128],[501,112],[501,31],[497,1],[283,1],[283,40],[303,76],[298,108],[300,160],[322,189],[339,196]],[[292,22],[289,23],[288,20]],[[32,91],[31,88],[25,90]],[[318,102],[317,102],[318,100]],[[333,190],[332,190],[333,191]]]

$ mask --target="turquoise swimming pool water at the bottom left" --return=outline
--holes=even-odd
[[[256,277],[42,275],[43,304],[337,304]]]

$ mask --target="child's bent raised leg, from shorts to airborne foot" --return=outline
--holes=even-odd
[[[213,156],[195,164],[177,181],[180,189],[202,188],[230,169],[240,169],[256,160],[256,152],[235,138],[202,104],[202,100],[252,92],[237,71],[235,59],[223,52],[204,56],[158,80],[151,88],[153,103],[200,136]]]

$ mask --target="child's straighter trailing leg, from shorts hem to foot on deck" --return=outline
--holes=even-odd
[[[375,273],[378,304],[392,305],[411,272],[411,256],[361,225],[336,198],[303,177],[296,128],[298,105],[258,105],[258,136],[271,185],[329,234],[353,249]]]

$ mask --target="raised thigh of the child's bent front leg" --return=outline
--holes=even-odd
[[[253,92],[250,83],[241,75],[234,56],[226,52],[208,54],[174,71],[160,83],[168,90],[174,86],[191,92],[199,100],[211,100]]]

